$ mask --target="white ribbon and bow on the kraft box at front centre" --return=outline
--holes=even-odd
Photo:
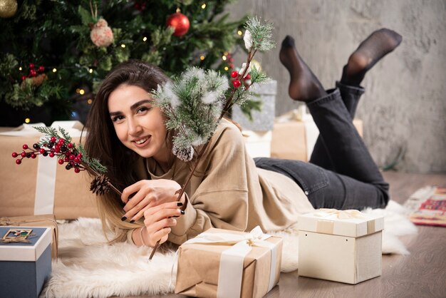
[[[185,244],[212,243],[216,245],[232,245],[220,256],[217,298],[240,297],[242,291],[244,257],[252,246],[267,247],[271,250],[271,265],[269,271],[268,292],[274,287],[277,264],[277,247],[274,243],[265,241],[271,235],[264,234],[259,226],[247,234],[210,233],[203,232],[197,237],[187,240]]]

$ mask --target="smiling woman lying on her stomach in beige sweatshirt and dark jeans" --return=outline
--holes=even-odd
[[[206,117],[219,103],[219,93],[206,93],[199,83],[207,78],[204,71],[187,71],[182,86],[141,61],[113,69],[90,110],[85,142],[88,155],[100,160],[110,182],[123,190],[120,196],[98,197],[104,230],[118,230],[115,240],[127,236],[139,246],[167,241],[181,245],[210,227],[246,231],[259,225],[264,231],[277,231],[294,225],[299,214],[313,208],[384,207],[388,183],[352,119],[364,92],[360,83],[365,74],[400,41],[394,31],[375,31],[352,53],[336,88],[326,91],[291,36],[285,38],[279,58],[290,73],[289,95],[306,104],[320,132],[310,163],[253,160],[237,126],[219,118],[209,124],[215,129],[207,143],[196,145],[200,159],[192,168],[190,159],[172,153],[178,135],[187,138],[191,130],[171,125],[176,118],[170,110],[183,104],[185,110],[204,106],[197,117]],[[245,88],[236,85],[232,94]],[[187,90],[206,96],[192,104]]]

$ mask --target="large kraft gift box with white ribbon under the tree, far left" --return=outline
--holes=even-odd
[[[43,123],[41,124],[43,125]],[[0,133],[0,216],[54,214],[58,220],[78,217],[98,217],[96,197],[90,192],[90,177],[86,171],[74,173],[59,165],[57,158],[24,158],[16,165],[11,153],[22,152],[22,145],[32,148],[38,143],[41,133],[31,126]],[[78,121],[58,121],[54,128],[66,128],[78,143],[82,124]]]

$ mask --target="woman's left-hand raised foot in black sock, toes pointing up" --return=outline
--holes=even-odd
[[[295,101],[311,101],[326,96],[321,82],[297,53],[294,39],[286,36],[282,41],[279,59],[289,71],[289,96]]]

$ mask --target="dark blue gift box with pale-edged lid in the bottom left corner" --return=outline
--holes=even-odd
[[[32,231],[30,243],[0,242],[0,293],[11,298],[38,297],[51,274],[51,229],[0,227],[0,237],[10,229]]]

